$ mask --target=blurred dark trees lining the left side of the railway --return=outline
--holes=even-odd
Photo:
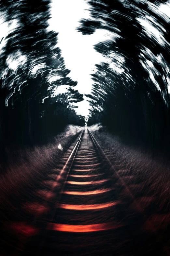
[[[65,125],[83,126],[74,103],[83,95],[69,76],[57,33],[48,30],[50,1],[0,1],[1,17],[12,28],[1,40],[0,51],[0,143],[5,147],[46,144]],[[11,66],[13,64],[13,66]],[[59,86],[65,94],[55,95]]]

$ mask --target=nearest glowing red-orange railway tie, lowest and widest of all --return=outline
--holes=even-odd
[[[56,224],[49,223],[50,230],[62,231],[62,232],[94,232],[101,230],[117,229],[123,227],[122,224],[108,222],[101,224],[92,224],[92,225],[66,225],[66,224]]]

